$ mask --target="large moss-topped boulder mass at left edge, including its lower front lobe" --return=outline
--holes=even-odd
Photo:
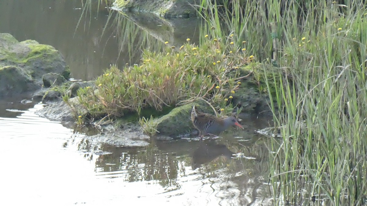
[[[34,40],[18,42],[10,34],[0,33],[0,68],[4,67],[0,78],[9,86],[0,84],[0,96],[35,91],[42,85],[42,76],[50,72],[66,79],[70,75],[62,54],[54,47]]]

